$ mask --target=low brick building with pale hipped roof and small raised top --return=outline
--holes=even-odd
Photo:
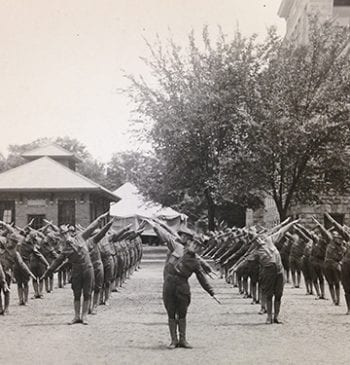
[[[27,162],[0,174],[0,219],[19,227],[34,219],[87,226],[118,196],[75,171],[79,159],[50,144],[22,155]]]

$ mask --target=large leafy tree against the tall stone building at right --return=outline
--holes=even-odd
[[[281,219],[296,201],[318,202],[346,188],[350,142],[350,31],[310,19],[309,42],[270,37],[245,97],[244,148],[229,151],[225,177],[252,179],[271,195]],[[342,171],[343,180],[333,174]],[[227,172],[227,170],[226,170]],[[344,175],[345,173],[345,175]],[[236,179],[237,182],[237,179]]]

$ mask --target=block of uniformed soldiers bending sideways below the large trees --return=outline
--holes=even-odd
[[[271,305],[271,294],[277,302],[275,322],[279,322],[283,285],[289,279],[290,272],[293,287],[300,287],[303,274],[307,294],[313,294],[315,290],[316,299],[326,298],[327,281],[334,305],[340,303],[342,283],[347,314],[350,314],[350,228],[339,224],[327,213],[326,217],[331,223],[329,229],[313,217],[315,225],[312,229],[302,225],[299,220],[287,219],[271,230],[251,227],[212,232],[203,255],[215,260],[226,281],[238,286],[240,293],[245,297],[252,296],[253,303],[261,303],[259,313],[270,310],[268,323],[272,318],[271,309],[267,308]],[[276,277],[270,280],[262,278],[266,268],[272,266],[283,273],[283,282],[279,285],[272,280],[276,280]],[[263,290],[264,286],[268,288]],[[279,288],[276,289],[276,286]],[[264,291],[268,294],[268,302]]]

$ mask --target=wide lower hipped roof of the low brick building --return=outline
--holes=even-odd
[[[119,196],[50,157],[41,157],[0,174],[0,191],[86,191]]]

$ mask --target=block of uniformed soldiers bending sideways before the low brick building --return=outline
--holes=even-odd
[[[96,314],[98,304],[109,304],[110,293],[137,270],[142,257],[140,234],[126,226],[111,229],[115,219],[105,213],[87,228],[55,226],[45,221],[44,227],[24,228],[0,221],[0,314],[9,313],[10,286],[17,283],[19,305],[28,303],[32,278],[34,298],[53,290],[54,273],[58,287],[72,284],[75,316],[73,323],[87,324],[87,314]],[[83,304],[81,308],[81,297]]]

